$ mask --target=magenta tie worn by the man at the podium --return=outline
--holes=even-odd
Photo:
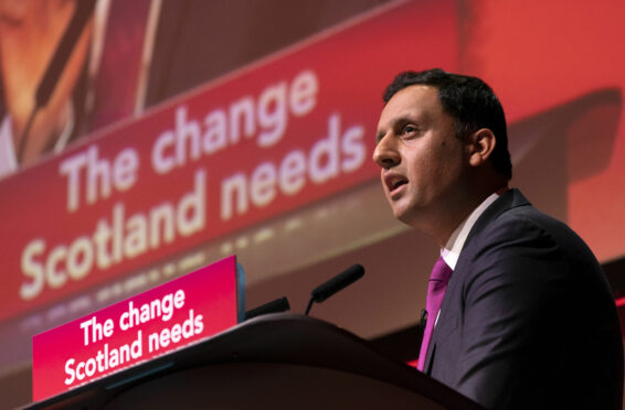
[[[430,274],[430,284],[427,285],[427,296],[425,299],[425,310],[427,311],[427,322],[425,324],[425,332],[423,332],[423,342],[421,343],[421,352],[419,354],[419,364],[416,368],[423,371],[425,366],[425,355],[427,354],[427,346],[432,339],[436,317],[443,304],[443,296],[447,290],[447,283],[452,277],[452,268],[445,263],[443,257],[438,258],[432,273]]]

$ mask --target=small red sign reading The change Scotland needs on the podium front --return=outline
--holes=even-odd
[[[33,401],[203,341],[237,323],[229,257],[33,337]]]

